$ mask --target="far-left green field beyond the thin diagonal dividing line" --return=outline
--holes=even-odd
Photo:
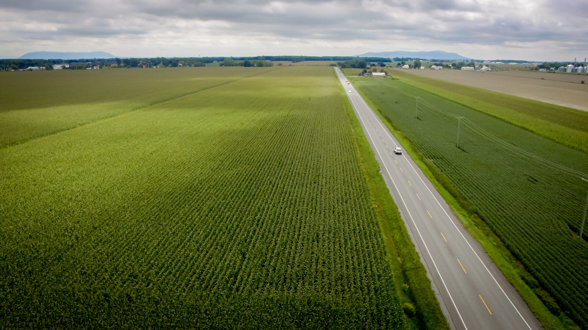
[[[274,68],[52,70],[0,74],[0,148]]]

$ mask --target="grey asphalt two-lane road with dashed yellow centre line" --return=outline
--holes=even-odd
[[[529,307],[463,229],[443,197],[335,68],[380,163],[386,184],[454,329],[542,329]]]

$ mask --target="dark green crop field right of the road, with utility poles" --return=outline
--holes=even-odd
[[[527,284],[588,328],[588,154],[398,80],[352,81],[538,281]]]

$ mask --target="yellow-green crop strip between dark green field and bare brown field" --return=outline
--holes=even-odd
[[[588,112],[400,70],[393,70],[390,74],[407,85],[588,152]]]

